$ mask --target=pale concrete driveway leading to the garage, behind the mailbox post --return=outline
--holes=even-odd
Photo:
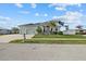
[[[26,38],[30,39],[34,35],[26,35]],[[23,35],[3,35],[0,36],[0,43],[8,43],[14,39],[23,39]]]

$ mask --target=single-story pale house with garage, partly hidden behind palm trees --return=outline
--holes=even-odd
[[[42,33],[45,34],[49,34],[51,27],[48,26],[50,22],[44,22],[44,23],[36,23],[36,24],[25,24],[25,25],[20,25],[20,34],[26,34],[26,35],[35,35],[37,34],[36,29],[38,26],[41,27]],[[57,26],[52,28],[52,30],[54,31],[57,28],[57,31],[60,31],[60,27],[61,25],[58,24],[58,21],[56,22]]]

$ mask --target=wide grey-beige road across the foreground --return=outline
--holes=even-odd
[[[0,61],[86,61],[86,44],[0,43]]]

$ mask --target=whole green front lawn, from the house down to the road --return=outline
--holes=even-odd
[[[61,44],[86,44],[86,37],[81,35],[36,35],[32,39],[12,40],[11,43],[61,43]]]

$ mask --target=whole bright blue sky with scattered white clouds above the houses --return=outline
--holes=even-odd
[[[70,28],[86,27],[86,3],[0,3],[0,27],[59,18]]]

